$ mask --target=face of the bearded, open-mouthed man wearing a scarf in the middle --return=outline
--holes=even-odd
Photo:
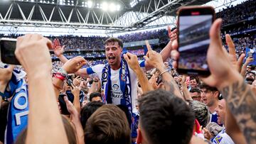
[[[109,65],[119,65],[121,61],[122,48],[117,42],[110,42],[105,45],[105,54]]]

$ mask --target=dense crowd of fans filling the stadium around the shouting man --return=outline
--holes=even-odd
[[[224,23],[251,16],[253,10],[245,9],[250,4],[255,1],[224,10],[235,16]],[[256,70],[244,54],[246,48],[256,50],[256,35],[222,38],[220,23],[211,26],[207,57],[187,61],[192,67],[207,59],[207,78],[178,74],[174,31],[119,36],[125,43],[168,43],[152,50],[145,42],[144,57],[122,54],[118,38],[18,38],[15,55],[22,69],[0,63],[0,143],[256,143]],[[86,59],[92,56],[104,58]],[[53,57],[58,60],[51,62]]]

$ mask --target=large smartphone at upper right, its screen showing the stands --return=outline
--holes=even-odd
[[[210,74],[206,55],[214,20],[211,6],[184,6],[178,10],[178,73],[205,77]]]

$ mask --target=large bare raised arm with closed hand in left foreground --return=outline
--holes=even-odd
[[[17,38],[15,55],[29,79],[26,143],[68,144],[50,76],[52,63],[48,47],[51,47],[50,40],[38,34]]]

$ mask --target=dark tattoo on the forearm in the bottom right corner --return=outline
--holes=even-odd
[[[235,82],[220,90],[227,100],[247,143],[256,143],[256,96],[245,82]]]

